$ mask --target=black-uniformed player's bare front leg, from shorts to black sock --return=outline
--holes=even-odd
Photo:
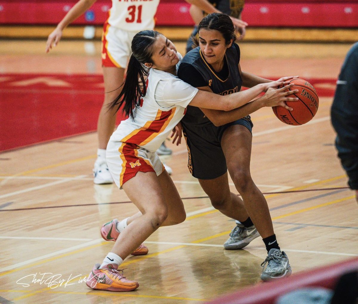
[[[227,128],[221,139],[229,174],[262,238],[274,234],[269,207],[250,174],[252,134],[243,125]]]

